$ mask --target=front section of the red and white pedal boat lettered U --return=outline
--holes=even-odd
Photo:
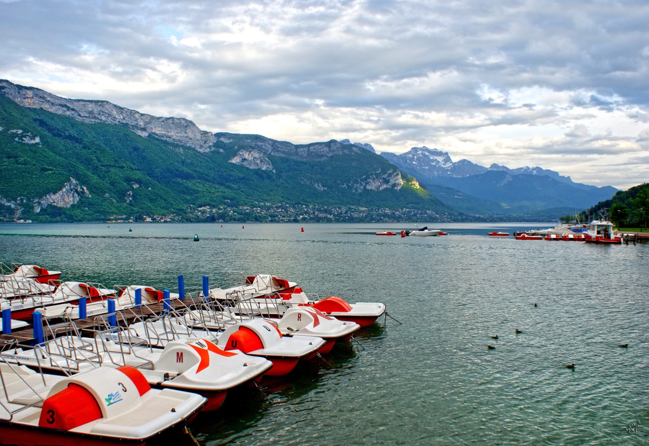
[[[286,375],[300,359],[313,358],[325,345],[326,341],[318,336],[283,336],[274,323],[263,319],[231,325],[219,335],[217,343],[226,351],[238,350],[270,360],[273,368],[265,373],[269,376]]]

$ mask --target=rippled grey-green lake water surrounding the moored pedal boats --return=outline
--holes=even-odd
[[[241,226],[2,224],[0,261],[172,291],[270,273],[386,303],[349,346],[201,414],[202,445],[649,444],[649,244],[487,237],[548,224]]]

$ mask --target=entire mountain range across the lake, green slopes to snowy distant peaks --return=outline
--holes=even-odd
[[[295,145],[211,133],[188,119],[8,80],[0,80],[0,172],[8,221],[432,222],[582,209],[615,193],[552,170],[453,163],[435,149],[377,155],[347,139]],[[523,191],[534,194],[515,194]]]

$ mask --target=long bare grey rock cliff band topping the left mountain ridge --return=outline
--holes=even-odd
[[[84,123],[123,125],[142,137],[153,135],[196,150],[212,150],[216,141],[214,134],[202,131],[188,119],[147,115],[104,100],[66,99],[42,89],[12,84],[8,80],[0,80],[0,94],[21,106],[41,108]]]

